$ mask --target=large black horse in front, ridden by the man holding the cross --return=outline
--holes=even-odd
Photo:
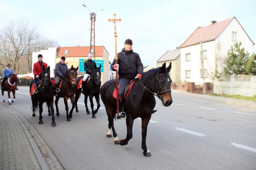
[[[112,128],[114,142],[120,145],[128,144],[128,141],[132,138],[132,126],[135,118],[141,118],[142,124],[142,143],[144,156],[151,156],[150,151],[147,149],[146,137],[147,127],[151,118],[152,111],[156,105],[155,95],[160,98],[163,106],[170,106],[172,104],[170,85],[172,83],[169,71],[171,64],[166,68],[165,63],[156,69],[149,70],[143,73],[142,77],[136,79],[132,85],[132,88],[125,99],[125,112],[127,114],[127,137],[124,140],[120,140],[117,137],[117,133],[114,128],[114,118],[117,112],[117,101],[113,97],[113,91],[116,88],[116,80],[110,80],[106,82],[100,88],[100,97],[105,105],[108,115],[108,128],[107,137],[111,138],[110,129]]]

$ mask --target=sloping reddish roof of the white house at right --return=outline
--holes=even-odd
[[[197,27],[191,36],[182,45],[180,45],[180,48],[199,44],[200,40],[202,40],[202,42],[215,40],[233,19],[236,18],[232,17],[219,23],[212,21],[209,26]]]

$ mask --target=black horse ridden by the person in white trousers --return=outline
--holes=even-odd
[[[100,107],[100,103],[99,103],[99,90],[100,90],[100,85],[101,85],[100,68],[101,68],[101,64],[99,65],[99,67],[95,67],[95,69],[92,71],[92,75],[88,78],[89,81],[85,85],[85,93],[84,93],[85,100],[84,100],[84,102],[85,102],[86,113],[90,114],[90,111],[89,111],[88,106],[87,106],[87,99],[88,99],[88,96],[89,96],[93,118],[96,118],[95,114],[98,112],[98,109]],[[84,78],[84,76],[80,76],[76,81],[76,85],[79,85],[79,82],[82,81],[83,78]],[[69,112],[69,117],[70,118],[72,118],[72,113],[73,113],[74,108],[76,108],[76,112],[79,112],[78,108],[77,108],[77,101],[80,97],[81,89],[82,88],[77,87],[77,90],[76,90],[76,93],[75,93],[75,102],[73,103],[72,109]],[[97,109],[96,110],[94,110],[94,102],[93,102],[94,97],[95,97],[96,102],[97,102]]]

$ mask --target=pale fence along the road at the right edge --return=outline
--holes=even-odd
[[[256,96],[256,76],[224,76],[215,79],[214,93]]]

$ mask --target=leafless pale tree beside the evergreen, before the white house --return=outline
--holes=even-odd
[[[213,52],[213,60],[207,59],[206,63],[208,65],[207,77],[214,82],[215,78],[219,78],[224,74],[224,61],[225,57],[221,53],[221,43],[217,42],[215,46],[215,51]]]

